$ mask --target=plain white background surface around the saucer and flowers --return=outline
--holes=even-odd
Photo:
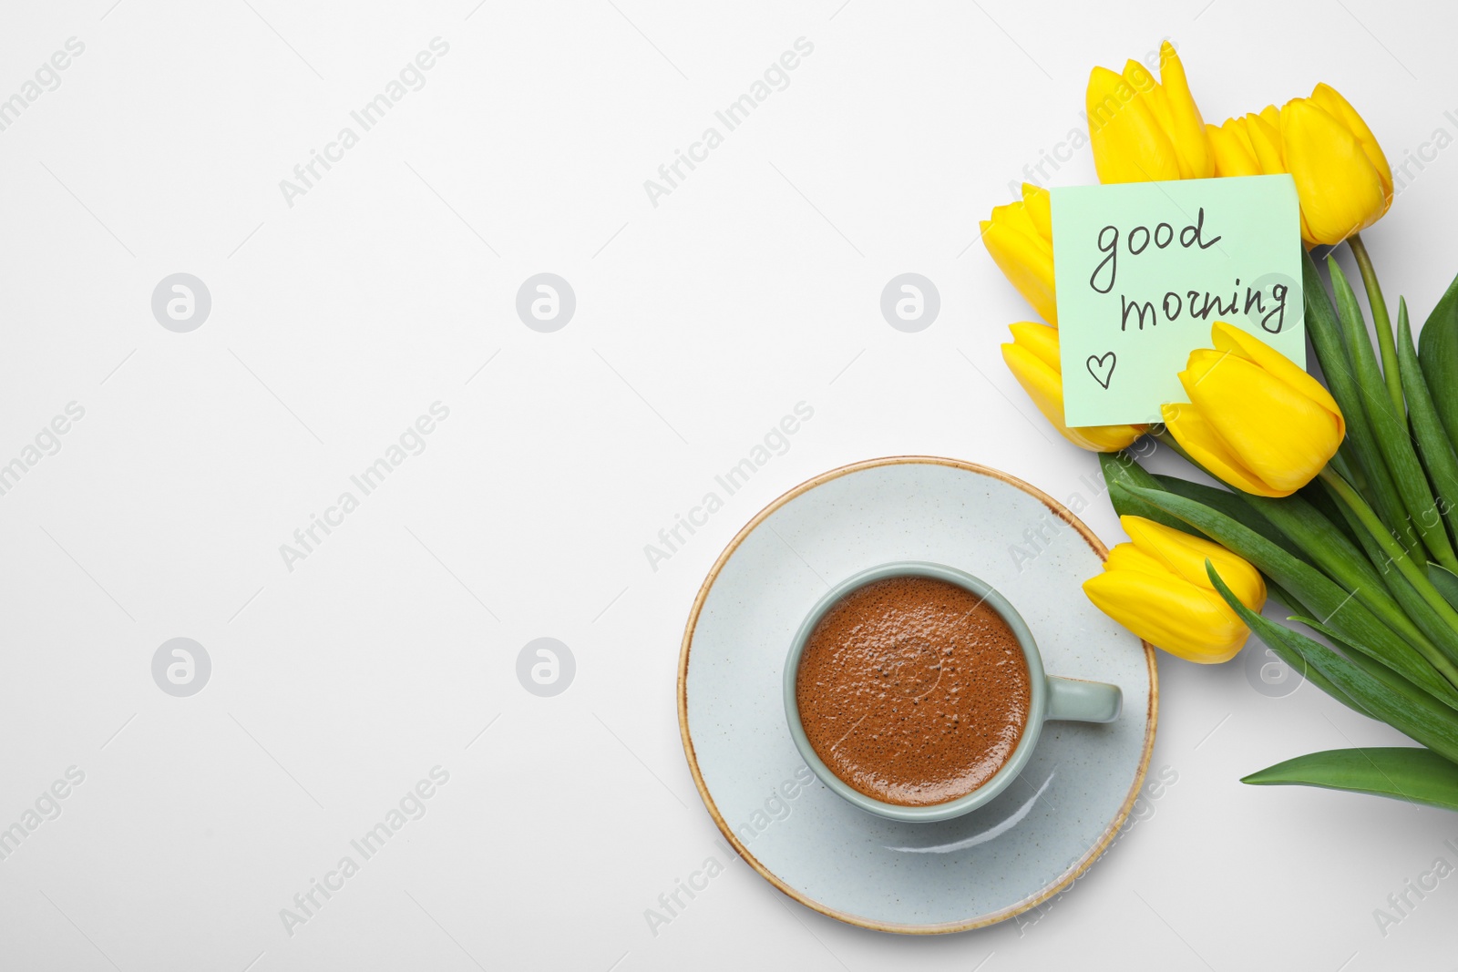
[[[742,863],[659,934],[643,915],[717,853],[675,665],[742,523],[881,455],[1059,498],[1094,474],[1006,373],[1031,310],[975,242],[1083,125],[1089,68],[1172,36],[1212,121],[1327,80],[1398,165],[1458,134],[1445,4],[7,4],[0,96],[85,52],[0,131],[0,462],[85,418],[0,495],[0,826],[86,777],[0,861],[0,968],[1454,965],[1458,879],[1385,937],[1373,909],[1458,864],[1458,818],[1238,783],[1398,737],[1163,654],[1152,771],[1178,781],[1035,924],[881,936]],[[280,179],[436,36],[426,86],[290,207]],[[789,87],[652,205],[644,179],[800,36]],[[1458,268],[1455,156],[1365,235],[1419,321]],[[1094,179],[1086,150],[1045,173]],[[191,334],[150,310],[176,271],[213,299]],[[542,271],[577,297],[555,334],[515,313]],[[920,334],[878,306],[905,271],[942,297]],[[429,447],[287,570],[280,544],[434,401]],[[644,544],[799,401],[790,449],[652,570]],[[1123,539],[1102,501],[1086,520]],[[179,635],[213,662],[191,698],[150,675]],[[515,675],[544,635],[577,662],[555,698]],[[436,765],[426,816],[287,934]]]

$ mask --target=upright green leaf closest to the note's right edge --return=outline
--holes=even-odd
[[[1392,482],[1392,474],[1387,471],[1382,452],[1372,434],[1372,426],[1368,424],[1366,411],[1362,408],[1362,391],[1357,386],[1356,372],[1352,369],[1346,338],[1341,335],[1341,322],[1337,321],[1336,307],[1331,305],[1331,297],[1327,296],[1327,286],[1322,283],[1311,254],[1302,251],[1301,259],[1301,294],[1306,306],[1306,335],[1311,338],[1311,345],[1317,348],[1321,373],[1327,377],[1327,389],[1337,399],[1337,407],[1341,408],[1341,415],[1347,421],[1347,442],[1362,468],[1362,478],[1350,481],[1365,484],[1363,494],[1372,497],[1378,514],[1395,529],[1404,520],[1403,498]],[[1429,377],[1429,380],[1432,379]],[[1455,421],[1458,421],[1458,415],[1455,415]]]

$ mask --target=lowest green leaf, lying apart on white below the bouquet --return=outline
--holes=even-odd
[[[1258,787],[1346,790],[1458,810],[1458,765],[1432,749],[1328,749],[1267,767],[1241,780]]]

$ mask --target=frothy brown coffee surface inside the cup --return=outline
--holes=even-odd
[[[956,584],[905,576],[857,587],[821,618],[795,699],[831,772],[884,803],[930,806],[1012,758],[1032,691],[1002,615]]]

